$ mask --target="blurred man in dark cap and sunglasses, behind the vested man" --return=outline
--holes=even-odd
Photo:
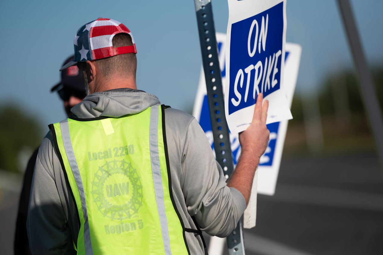
[[[72,61],[73,57],[74,56],[70,56],[67,60],[65,60],[64,65]],[[71,66],[61,72],[61,81],[54,85],[51,89],[51,92],[55,91],[57,91],[63,101],[64,109],[67,115],[72,115],[70,108],[80,103],[85,97],[85,86],[77,66]],[[19,210],[16,220],[14,242],[15,254],[32,254],[29,250],[29,242],[26,232],[26,219],[34,164],[36,163],[38,150],[39,149],[37,148],[33,152],[31,158],[28,160],[28,165],[25,170],[24,183],[21,190]]]

